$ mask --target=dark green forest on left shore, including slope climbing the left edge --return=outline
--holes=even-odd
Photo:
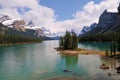
[[[0,23],[0,44],[21,44],[21,43],[34,43],[41,42],[41,38],[18,35],[16,33],[10,34],[6,32],[6,26]]]

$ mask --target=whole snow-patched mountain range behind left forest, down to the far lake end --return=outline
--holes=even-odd
[[[0,14],[0,32],[2,34],[20,35],[26,37],[37,37],[42,39],[59,39],[55,33],[45,27],[35,26],[33,21],[25,22],[21,18],[11,18]]]

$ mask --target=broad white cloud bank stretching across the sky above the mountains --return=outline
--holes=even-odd
[[[88,26],[93,22],[98,22],[100,14],[105,10],[117,11],[119,0],[103,0],[99,4],[94,1],[88,2],[81,11],[73,13],[74,19],[56,21],[56,14],[53,9],[42,6],[38,0],[0,0],[1,14],[9,15],[13,18],[24,18],[26,21],[32,20],[36,25],[47,27],[52,32],[64,32],[65,30],[75,29],[80,31],[83,26]],[[30,10],[20,14],[17,10],[29,8]],[[72,16],[72,15],[71,15]]]

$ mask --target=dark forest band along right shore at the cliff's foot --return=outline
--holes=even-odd
[[[120,32],[107,34],[87,34],[79,37],[79,42],[111,42],[120,41]]]

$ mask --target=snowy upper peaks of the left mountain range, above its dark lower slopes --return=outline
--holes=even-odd
[[[18,32],[22,31],[23,33],[27,33],[27,35],[29,36],[34,35],[37,37],[51,37],[51,38],[57,36],[57,34],[52,33],[49,29],[45,27],[36,26],[32,20],[30,20],[26,24],[24,19],[21,18],[13,19],[8,15],[0,15],[0,23]]]

